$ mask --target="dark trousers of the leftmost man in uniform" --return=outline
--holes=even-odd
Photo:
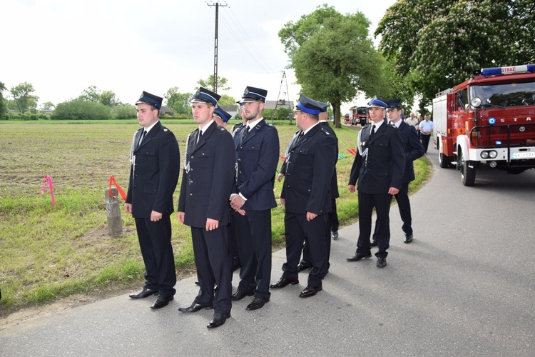
[[[145,263],[145,287],[158,290],[161,296],[175,295],[175,258],[171,246],[170,216],[160,221],[136,218],[141,256]]]

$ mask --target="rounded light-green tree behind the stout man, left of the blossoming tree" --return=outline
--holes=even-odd
[[[279,31],[302,94],[332,104],[337,128],[343,102],[359,91],[384,96],[387,89],[384,59],[373,47],[369,26],[364,14],[342,15],[325,4]]]

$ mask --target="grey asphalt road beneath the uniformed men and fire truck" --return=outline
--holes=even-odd
[[[307,281],[272,291],[258,311],[250,298],[208,330],[213,311],[180,313],[197,293],[177,283],[175,300],[128,295],[34,318],[0,331],[0,356],[534,356],[535,170],[478,171],[473,187],[439,169],[412,197],[414,241],[404,244],[391,210],[388,266],[345,261],[358,225],[332,243],[324,290],[299,298]],[[355,199],[357,197],[355,196]],[[273,254],[272,281],[285,252]],[[239,281],[234,276],[234,286]]]

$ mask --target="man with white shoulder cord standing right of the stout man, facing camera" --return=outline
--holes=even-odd
[[[368,104],[372,125],[359,132],[348,189],[359,191],[359,238],[355,256],[347,261],[370,258],[370,235],[372,233],[373,208],[377,212],[377,267],[387,266],[387,249],[390,241],[389,210],[392,195],[402,187],[405,169],[405,152],[399,130],[388,125],[384,119],[387,104],[383,99],[374,98]]]

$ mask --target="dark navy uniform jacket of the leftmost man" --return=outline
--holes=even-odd
[[[136,133],[126,203],[134,218],[150,218],[151,211],[173,213],[173,192],[180,172],[180,153],[175,135],[158,121],[138,146]]]

